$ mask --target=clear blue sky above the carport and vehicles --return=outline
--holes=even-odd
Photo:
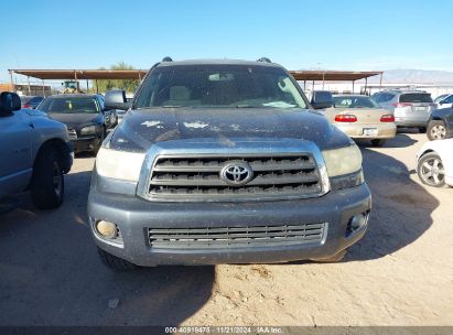
[[[150,68],[164,56],[453,71],[452,13],[450,0],[4,1],[0,83],[8,68]]]

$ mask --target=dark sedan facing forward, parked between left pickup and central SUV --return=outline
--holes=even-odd
[[[64,94],[46,98],[37,109],[67,126],[75,152],[97,153],[107,130],[117,125],[115,110],[105,108],[101,95]]]

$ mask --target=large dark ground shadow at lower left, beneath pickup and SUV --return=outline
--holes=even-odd
[[[67,175],[56,210],[36,210],[23,194],[0,216],[0,325],[175,325],[209,299],[214,267],[105,268],[87,225],[89,179]]]

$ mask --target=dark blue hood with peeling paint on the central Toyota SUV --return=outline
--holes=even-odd
[[[109,148],[147,151],[153,143],[211,138],[222,141],[303,139],[320,147],[348,145],[349,139],[327,119],[305,109],[152,108],[131,110],[109,137]]]

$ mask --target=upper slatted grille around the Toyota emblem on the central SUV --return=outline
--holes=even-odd
[[[220,170],[231,161],[250,165],[254,177],[230,186]],[[175,201],[240,201],[320,196],[322,181],[313,155],[159,156],[152,168],[148,197]]]

